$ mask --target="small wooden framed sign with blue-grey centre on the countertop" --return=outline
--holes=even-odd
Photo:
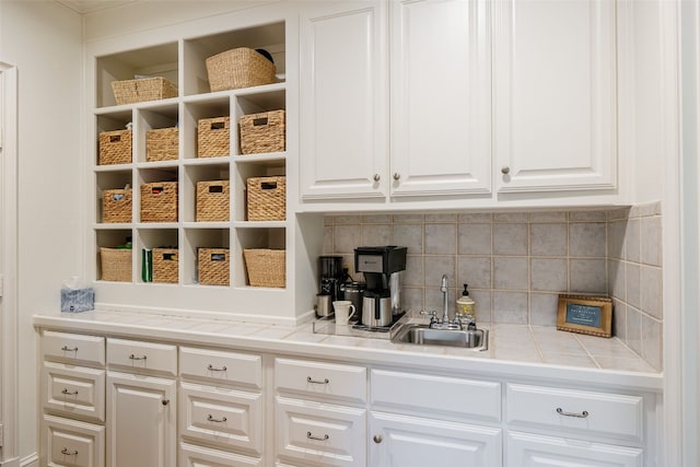
[[[557,329],[598,337],[612,336],[612,300],[560,294]]]

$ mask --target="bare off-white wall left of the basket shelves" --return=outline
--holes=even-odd
[[[37,360],[32,314],[57,310],[80,273],[80,16],[54,1],[0,1],[0,60],[19,71],[20,457],[37,448]],[[9,311],[5,311],[9,312]]]

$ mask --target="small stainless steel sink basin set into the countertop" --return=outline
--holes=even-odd
[[[429,325],[406,324],[396,331],[392,342],[450,346],[480,351],[489,348],[489,331],[488,329],[431,329]]]

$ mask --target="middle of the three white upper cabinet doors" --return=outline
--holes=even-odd
[[[491,190],[486,1],[392,3],[392,195]]]

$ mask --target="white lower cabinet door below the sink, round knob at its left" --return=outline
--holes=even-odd
[[[371,412],[370,464],[383,467],[501,465],[501,430]]]

